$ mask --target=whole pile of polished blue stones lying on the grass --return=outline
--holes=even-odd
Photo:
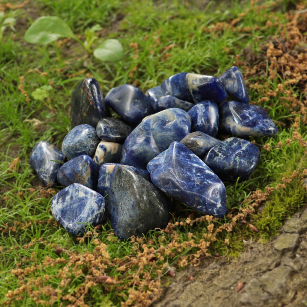
[[[236,66],[219,78],[178,73],[145,94],[124,84],[105,99],[97,80],[86,78],[72,92],[62,150],[38,142],[30,164],[45,185],[65,187],[51,211],[73,235],[106,216],[121,240],[164,228],[171,198],[223,217],[223,181],[246,180],[260,157],[241,137],[277,133],[267,112],[248,102]],[[233,137],[220,141],[217,132]]]

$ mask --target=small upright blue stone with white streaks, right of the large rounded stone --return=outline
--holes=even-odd
[[[191,131],[216,136],[219,127],[219,108],[215,102],[201,101],[192,107],[188,114],[192,119]]]

